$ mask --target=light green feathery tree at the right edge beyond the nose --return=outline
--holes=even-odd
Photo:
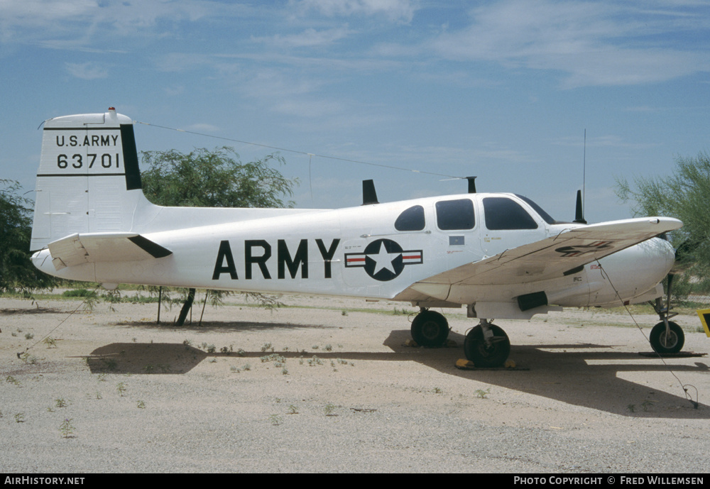
[[[710,155],[678,157],[672,175],[638,177],[632,188],[626,179],[616,179],[616,194],[623,201],[633,201],[636,216],[670,216],[684,226],[670,236],[679,258],[686,258],[689,275],[710,279]]]

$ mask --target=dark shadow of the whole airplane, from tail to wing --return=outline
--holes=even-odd
[[[140,324],[140,323],[139,323]],[[226,326],[226,328],[225,328]],[[203,326],[204,327],[204,326]],[[293,328],[290,324],[228,323],[212,326],[219,331],[261,331],[268,327]],[[298,327],[298,326],[296,326]],[[306,326],[314,327],[314,326]],[[319,327],[319,326],[315,326]],[[173,326],[170,326],[173,328]],[[202,330],[202,328],[201,328]],[[702,361],[694,366],[671,364],[658,358],[640,356],[637,352],[612,349],[596,344],[513,345],[510,358],[519,368],[528,370],[459,370],[454,366],[464,357],[464,336],[452,332],[453,348],[412,348],[405,346],[410,331],[395,330],[383,342],[391,352],[356,351],[278,351],[284,358],[340,358],[347,361],[415,361],[447,375],[498,385],[532,395],[566,402],[570,405],[630,417],[708,419],[706,405],[693,409],[682,392],[679,381],[683,373],[706,373],[709,366]],[[554,350],[554,351],[549,351]],[[208,353],[195,346],[170,343],[114,343],[99,347],[87,357],[92,373],[175,374],[187,373],[206,358],[261,358],[271,351],[214,351]],[[678,395],[652,389],[647,385],[619,378],[619,373],[645,372],[663,375],[677,385]],[[647,375],[647,376],[648,376]],[[694,399],[697,393],[689,388]],[[471,388],[474,395],[474,388]]]

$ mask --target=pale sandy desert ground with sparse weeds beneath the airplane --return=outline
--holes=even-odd
[[[0,471],[710,471],[709,360],[640,355],[652,315],[498,321],[517,368],[459,370],[465,309],[444,310],[455,344],[416,348],[402,304],[281,301],[175,327],[157,304],[0,299]]]

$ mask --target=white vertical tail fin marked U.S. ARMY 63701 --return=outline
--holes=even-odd
[[[111,108],[45,122],[31,250],[75,233],[130,231],[141,199],[131,119]]]

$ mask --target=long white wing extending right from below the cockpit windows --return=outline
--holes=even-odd
[[[445,300],[452,285],[520,284],[571,275],[587,263],[682,225],[670,217],[648,217],[579,226],[420,280],[403,294],[414,290]]]

